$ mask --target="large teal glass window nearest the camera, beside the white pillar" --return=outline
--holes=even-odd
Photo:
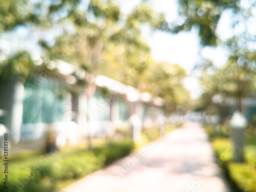
[[[63,121],[68,109],[67,99],[66,87],[57,80],[26,81],[24,83],[23,124]]]

